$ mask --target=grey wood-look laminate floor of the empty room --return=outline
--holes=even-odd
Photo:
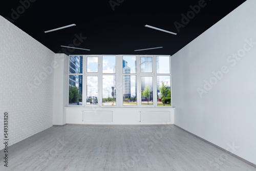
[[[0,170],[256,170],[176,126],[53,126],[9,147]]]

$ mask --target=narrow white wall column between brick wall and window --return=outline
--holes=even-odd
[[[67,123],[64,107],[68,104],[68,70],[69,56],[55,54],[56,65],[54,69],[54,99],[53,99],[53,124]]]

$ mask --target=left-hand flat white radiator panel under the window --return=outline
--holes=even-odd
[[[113,122],[112,111],[83,111],[83,122]]]

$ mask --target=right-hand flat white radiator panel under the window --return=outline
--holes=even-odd
[[[170,122],[170,112],[140,112],[141,122]]]

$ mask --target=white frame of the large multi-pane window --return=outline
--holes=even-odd
[[[70,75],[82,75],[82,105],[69,105],[68,106],[82,106],[88,108],[173,108],[173,96],[172,96],[172,67],[170,55],[70,55],[70,56],[83,56],[83,72],[82,74],[68,74]],[[70,56],[69,56],[69,69],[70,69]],[[116,56],[116,73],[103,74],[102,73],[102,56]],[[136,56],[137,61],[137,72],[136,74],[123,74],[122,62],[123,56]],[[157,74],[157,56],[168,56],[169,57],[169,70],[170,74]],[[98,72],[87,72],[87,57],[98,57]],[[152,57],[152,73],[141,73],[141,57]],[[116,75],[116,105],[102,105],[102,76],[103,75]],[[123,75],[136,75],[137,79],[137,105],[123,105]],[[87,76],[98,76],[98,104],[87,104]],[[153,105],[142,105],[141,104],[141,77],[148,76],[153,77]],[[158,106],[157,105],[157,76],[170,76],[170,97],[171,105],[169,106]],[[69,79],[69,78],[68,78]],[[69,81],[68,81],[69,90]],[[69,93],[68,93],[69,96]]]

